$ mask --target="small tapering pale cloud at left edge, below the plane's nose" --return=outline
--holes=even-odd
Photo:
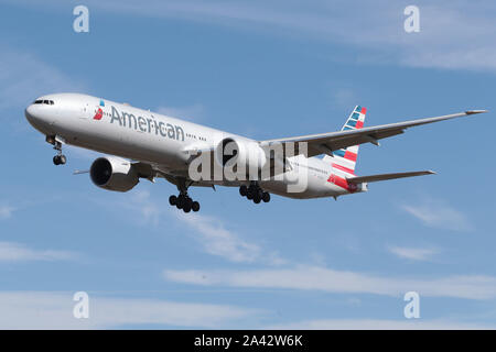
[[[33,250],[17,242],[0,242],[0,262],[67,261],[75,256],[66,251]]]

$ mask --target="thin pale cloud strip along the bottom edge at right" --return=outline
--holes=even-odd
[[[269,326],[277,330],[473,330],[494,326],[448,320],[319,319]]]

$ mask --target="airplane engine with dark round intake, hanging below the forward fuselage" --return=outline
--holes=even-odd
[[[116,191],[128,191],[139,183],[132,164],[119,157],[97,158],[89,168],[89,176],[96,186]]]

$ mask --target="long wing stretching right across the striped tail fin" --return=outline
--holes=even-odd
[[[410,120],[405,122],[389,123],[382,125],[376,125],[370,128],[363,128],[359,130],[346,130],[338,132],[321,133],[321,134],[310,134],[302,136],[294,136],[288,139],[268,140],[261,141],[260,146],[269,146],[276,143],[295,143],[295,154],[303,154],[303,151],[298,147],[298,143],[308,143],[306,156],[315,156],[320,154],[333,155],[333,151],[345,148],[352,145],[358,145],[363,143],[373,143],[379,145],[378,141],[386,139],[388,136],[401,134],[408,128],[416,125],[428,124],[444,120],[451,120],[454,118],[466,117],[476,113],[487,112],[487,110],[468,110],[465,112],[446,114],[435,118],[427,118],[419,120]]]

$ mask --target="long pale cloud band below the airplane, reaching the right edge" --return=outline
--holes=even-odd
[[[414,279],[335,271],[317,266],[296,266],[294,268],[251,271],[166,270],[163,276],[166,280],[204,286],[321,290],[385,296],[401,296],[413,290],[421,296],[431,297],[496,298],[496,277],[484,275]]]

